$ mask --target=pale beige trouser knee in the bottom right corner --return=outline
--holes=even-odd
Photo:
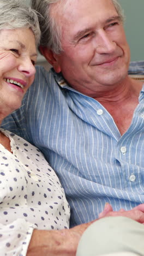
[[[115,256],[124,252],[144,255],[143,237],[144,225],[133,219],[101,218],[88,226],[81,236],[76,256]]]

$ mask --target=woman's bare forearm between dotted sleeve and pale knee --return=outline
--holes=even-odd
[[[81,235],[91,223],[64,230],[34,230],[27,256],[74,256]]]

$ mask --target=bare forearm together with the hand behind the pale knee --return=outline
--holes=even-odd
[[[106,204],[100,218],[123,216],[144,223],[144,204],[136,206],[132,210],[120,210],[115,212],[109,203]],[[27,256],[75,256],[79,240],[83,232],[92,222],[75,226],[66,230],[41,231],[34,230],[29,243]]]

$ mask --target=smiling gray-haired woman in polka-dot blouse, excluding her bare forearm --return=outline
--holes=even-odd
[[[19,0],[0,0],[0,120],[19,108],[34,80],[37,14]],[[34,229],[69,227],[69,206],[43,154],[0,131],[0,255],[26,255]]]

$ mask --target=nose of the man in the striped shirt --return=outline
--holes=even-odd
[[[97,34],[96,50],[99,54],[112,54],[116,50],[116,42],[105,31]]]

